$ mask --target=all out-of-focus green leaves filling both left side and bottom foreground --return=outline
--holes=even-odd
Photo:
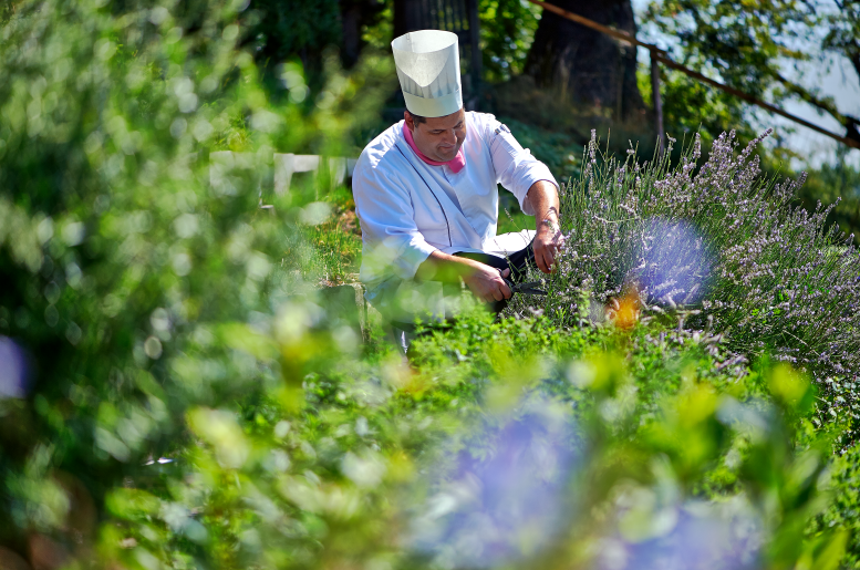
[[[857,459],[830,463],[798,373],[660,323],[480,310],[411,362],[379,331],[362,343],[296,259],[334,267],[308,238],[340,221],[308,224],[348,193],[261,190],[274,152],[346,154],[391,62],[325,60],[314,90],[283,62],[272,96],[244,6],[52,0],[4,20],[0,335],[32,366],[0,400],[0,548],[40,568],[429,568],[414,522],[496,505],[473,476],[519,463],[561,474],[570,512],[546,537],[502,520],[510,568],[635,566],[701,521],[766,528],[758,550],[721,542],[765,566],[840,559]],[[247,167],[214,168],[225,149]],[[536,405],[549,423],[511,448]]]

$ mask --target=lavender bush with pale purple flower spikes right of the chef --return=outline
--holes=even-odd
[[[858,250],[826,227],[830,208],[792,207],[804,177],[761,176],[754,151],[769,133],[740,153],[724,133],[701,167],[696,135],[672,167],[669,153],[643,165],[633,148],[624,162],[600,157],[592,132],[582,176],[562,188],[566,241],[541,309],[567,327],[625,311],[681,315],[747,357],[808,370],[854,415]]]

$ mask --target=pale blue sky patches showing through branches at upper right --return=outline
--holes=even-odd
[[[659,33],[644,19],[644,11],[650,0],[632,0],[633,10],[636,13],[639,23],[639,38],[642,41],[656,43],[661,48],[669,48],[673,44],[673,38]],[[642,62],[649,62],[647,50],[640,48],[639,59]],[[827,64],[810,62],[806,68],[797,71],[794,65],[784,65],[783,71],[786,76],[804,86],[819,86],[822,95],[833,97],[837,107],[843,114],[860,116],[860,79],[857,76],[851,63],[843,56],[829,55]],[[830,115],[819,114],[816,107],[801,101],[786,101],[783,108],[788,113],[805,118],[810,123],[817,124],[832,133],[842,135],[845,129]],[[785,144],[795,151],[801,157],[791,166],[796,168],[819,167],[823,163],[835,163],[837,159],[837,148],[841,143],[819,134],[811,128],[801,126],[792,121],[768,113],[758,107],[752,107],[754,124],[761,131],[773,126],[779,134],[785,136]],[[846,160],[860,167],[860,149],[851,149],[846,156]]]

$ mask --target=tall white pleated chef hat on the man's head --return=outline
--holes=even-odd
[[[441,117],[463,108],[456,34],[410,32],[391,42],[391,49],[410,113]]]

